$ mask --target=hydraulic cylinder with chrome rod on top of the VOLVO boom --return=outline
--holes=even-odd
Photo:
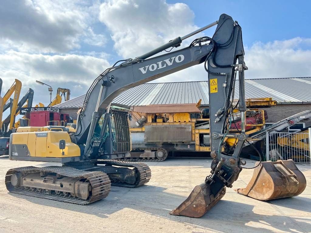
[[[213,23],[211,23],[211,24],[209,24],[209,25],[207,25],[205,27],[202,27],[202,28],[200,28],[200,29],[198,29],[198,30],[196,30],[196,31],[194,31],[192,33],[189,33],[188,35],[185,35],[183,37],[177,37],[177,38],[169,41],[168,43],[166,43],[164,45],[161,45],[160,47],[155,48],[154,50],[152,50],[152,51],[150,51],[148,53],[145,53],[145,54],[143,54],[143,55],[141,55],[141,56],[139,56],[137,58],[138,59],[146,59],[146,58],[151,57],[151,56],[153,56],[153,55],[155,55],[157,53],[162,52],[165,49],[168,49],[168,48],[171,48],[171,47],[178,47],[184,39],[187,39],[190,36],[193,36],[193,35],[195,35],[195,34],[197,34],[199,32],[202,32],[202,31],[204,31],[204,30],[206,30],[206,29],[208,29],[208,28],[210,28],[212,26],[215,26],[216,24],[218,24],[218,21],[215,21],[215,22],[213,22]]]

